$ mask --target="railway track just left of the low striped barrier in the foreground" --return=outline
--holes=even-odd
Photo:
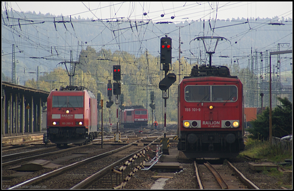
[[[133,153],[135,150],[138,150],[138,146],[134,146],[133,143],[130,143],[116,150],[87,158],[39,177],[27,180],[19,185],[11,187],[11,189],[29,186],[32,184],[47,185],[47,189],[69,189],[84,180],[85,177],[94,174],[108,165],[111,165],[113,161],[118,160],[117,158],[121,160],[124,158],[123,156],[129,155],[129,153]]]

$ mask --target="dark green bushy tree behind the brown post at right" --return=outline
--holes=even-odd
[[[288,98],[277,98],[282,105],[278,105],[272,111],[272,132],[274,137],[283,137],[292,134],[292,103]],[[253,128],[248,129],[253,138],[269,138],[269,108],[257,115],[252,121]]]

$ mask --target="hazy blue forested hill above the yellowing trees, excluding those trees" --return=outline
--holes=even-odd
[[[248,66],[248,56],[252,52],[254,54],[255,50],[277,50],[278,43],[290,43],[292,47],[292,19],[284,18],[250,18],[248,21],[244,18],[216,21],[187,19],[177,24],[156,24],[123,19],[92,21],[35,12],[7,11],[6,15],[3,10],[2,16],[2,73],[11,77],[11,54],[8,53],[15,44],[16,78],[21,84],[36,76],[29,72],[36,72],[37,66],[40,73],[53,71],[57,63],[70,59],[70,51],[73,60],[78,60],[81,50],[87,46],[96,51],[127,52],[135,60],[145,54],[146,49],[150,55],[157,57],[159,39],[165,34],[173,39],[173,61],[176,61],[179,55],[177,26],[183,26],[180,30],[183,42],[181,57],[188,63],[206,60],[203,43],[193,40],[198,36],[222,36],[228,39],[218,43],[213,63],[230,65],[235,58],[239,58],[241,68]],[[214,48],[213,43],[209,45]]]

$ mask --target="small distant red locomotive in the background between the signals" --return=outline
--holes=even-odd
[[[148,125],[148,110],[141,105],[126,106],[122,111],[121,123],[125,128],[146,127]]]

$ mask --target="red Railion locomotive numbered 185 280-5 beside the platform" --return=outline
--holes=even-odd
[[[52,143],[83,144],[97,137],[97,100],[83,87],[66,86],[47,98],[47,137]]]

